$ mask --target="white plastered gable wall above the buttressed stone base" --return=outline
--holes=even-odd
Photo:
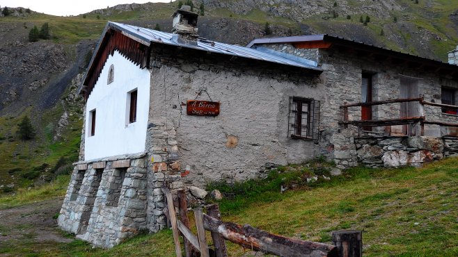
[[[107,85],[110,66],[113,82]],[[129,124],[128,93],[137,89],[136,122]],[[84,160],[145,151],[150,103],[150,72],[118,51],[109,56],[86,103]],[[96,109],[95,135],[90,136],[90,111]]]

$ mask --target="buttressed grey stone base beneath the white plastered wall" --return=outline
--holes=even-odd
[[[145,158],[77,163],[58,217],[65,231],[113,247],[147,229]]]

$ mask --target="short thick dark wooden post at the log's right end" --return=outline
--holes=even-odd
[[[363,256],[363,232],[340,230],[332,233],[332,242],[339,249],[340,257]]]

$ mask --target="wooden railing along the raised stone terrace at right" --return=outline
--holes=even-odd
[[[379,105],[384,105],[384,104],[389,104],[389,103],[409,103],[413,101],[418,101],[419,103],[419,109],[418,113],[419,116],[416,117],[402,117],[402,118],[394,118],[394,119],[370,119],[370,120],[354,120],[350,121],[349,120],[349,113],[348,113],[348,108],[350,107],[362,107],[362,106],[379,106]],[[420,98],[409,98],[409,99],[390,99],[390,100],[384,100],[384,101],[372,101],[368,103],[349,103],[345,102],[343,106],[340,106],[342,108],[343,112],[343,120],[342,122],[339,122],[344,126],[344,128],[347,128],[348,125],[354,125],[358,127],[358,133],[361,135],[361,131],[363,127],[368,127],[368,126],[395,126],[395,125],[409,125],[409,129],[407,130],[407,135],[410,135],[411,131],[411,126],[414,124],[420,124],[421,128],[421,135],[424,134],[425,127],[424,124],[435,124],[439,126],[452,126],[452,127],[458,127],[458,123],[447,123],[447,122],[437,122],[437,121],[430,121],[425,118],[425,108],[424,106],[438,106],[442,108],[455,108],[458,109],[458,106],[452,106],[449,104],[443,104],[443,103],[432,103],[429,101],[425,101],[423,97]]]

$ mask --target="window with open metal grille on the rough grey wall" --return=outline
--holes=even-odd
[[[290,97],[288,137],[318,142],[319,101]]]

